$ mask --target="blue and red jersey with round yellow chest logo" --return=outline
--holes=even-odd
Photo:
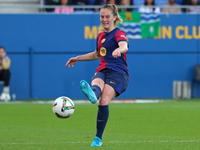
[[[126,33],[119,28],[115,28],[111,32],[101,32],[97,36],[97,51],[100,54],[100,63],[96,72],[104,68],[109,68],[118,71],[126,76],[129,76],[126,53],[121,54],[121,57],[114,58],[112,52],[119,47],[120,41],[127,41]],[[127,41],[128,42],[128,41]]]

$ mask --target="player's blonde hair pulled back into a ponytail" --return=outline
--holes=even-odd
[[[116,20],[114,21],[114,26],[117,27],[118,23],[122,23],[123,20],[118,13],[118,8],[115,4],[106,4],[101,9],[110,9],[112,11],[113,16],[117,16]]]

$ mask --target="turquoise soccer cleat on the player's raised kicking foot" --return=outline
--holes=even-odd
[[[95,104],[97,102],[97,97],[93,92],[93,90],[91,89],[90,85],[85,80],[81,80],[80,87],[82,92],[87,96],[90,102],[92,104]]]

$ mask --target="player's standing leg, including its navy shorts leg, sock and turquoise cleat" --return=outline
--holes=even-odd
[[[128,86],[128,77],[123,74],[113,71],[105,70],[105,85],[101,97],[99,99],[99,110],[97,115],[97,134],[91,146],[102,146],[102,135],[107,124],[109,116],[110,101],[123,93]]]

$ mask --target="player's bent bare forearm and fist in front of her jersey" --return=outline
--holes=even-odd
[[[128,43],[127,41],[120,41],[118,43],[119,47],[115,49],[112,53],[114,58],[121,57],[122,53],[126,53],[128,51]]]

